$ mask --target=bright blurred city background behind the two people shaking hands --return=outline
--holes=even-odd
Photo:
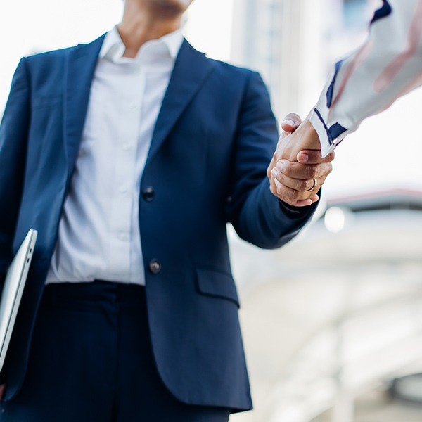
[[[196,0],[184,33],[261,72],[274,113],[305,117],[381,1]],[[0,5],[0,115],[22,56],[91,41],[120,0]],[[422,420],[422,91],[336,150],[312,224],[263,251],[229,228],[255,410],[231,422]]]

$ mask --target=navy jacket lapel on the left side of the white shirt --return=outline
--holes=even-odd
[[[87,115],[89,91],[105,35],[91,42],[79,44],[68,53],[65,87],[65,147],[68,153],[68,177],[70,178]]]

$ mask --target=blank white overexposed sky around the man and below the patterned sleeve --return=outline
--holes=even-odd
[[[122,8],[122,0],[1,1],[0,114],[20,57],[91,41],[120,21]],[[196,0],[188,11],[186,36],[209,56],[229,60],[232,18],[233,0]],[[326,195],[397,187],[422,191],[421,111],[419,90],[364,122],[337,148]]]

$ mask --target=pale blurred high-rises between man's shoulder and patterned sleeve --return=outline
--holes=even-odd
[[[328,69],[366,35],[376,0],[234,0],[231,60],[259,71],[277,117],[307,113]]]

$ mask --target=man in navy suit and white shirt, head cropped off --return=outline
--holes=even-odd
[[[0,128],[0,274],[33,227],[0,420],[222,422],[252,407],[226,224],[278,248],[332,156],[269,190],[255,72],[179,32],[191,0],[127,0],[91,44],[23,58]]]

